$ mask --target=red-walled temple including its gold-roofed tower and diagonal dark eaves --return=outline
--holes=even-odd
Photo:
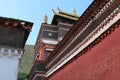
[[[41,25],[29,80],[120,80],[120,1],[94,0],[79,17]]]

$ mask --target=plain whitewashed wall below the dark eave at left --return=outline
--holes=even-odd
[[[17,58],[0,57],[0,80],[17,80]]]

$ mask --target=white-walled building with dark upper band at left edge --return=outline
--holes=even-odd
[[[17,80],[18,65],[33,23],[0,17],[0,80]]]

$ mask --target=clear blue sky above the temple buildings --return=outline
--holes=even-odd
[[[32,32],[29,35],[27,44],[34,45],[43,22],[43,17],[48,15],[48,23],[54,16],[52,9],[73,13],[74,8],[78,15],[87,9],[93,0],[0,0],[0,16],[15,18],[33,22]]]

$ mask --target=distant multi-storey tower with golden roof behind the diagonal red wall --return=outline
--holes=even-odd
[[[47,15],[44,17],[44,23],[42,23],[39,31],[38,38],[36,40],[35,45],[35,59],[34,64],[31,69],[40,68],[39,66],[45,65],[45,60],[49,55],[52,54],[56,45],[64,38],[66,33],[71,29],[71,27],[77,22],[79,16],[76,14],[76,10],[74,9],[73,14],[66,13],[61,11],[58,8],[58,12],[54,12],[53,20],[51,24],[47,23]],[[40,68],[41,70],[41,68]],[[35,75],[31,75],[34,77],[38,75],[40,70],[37,70],[34,73]],[[45,68],[43,68],[43,73],[45,72]],[[41,72],[41,71],[40,71]]]

